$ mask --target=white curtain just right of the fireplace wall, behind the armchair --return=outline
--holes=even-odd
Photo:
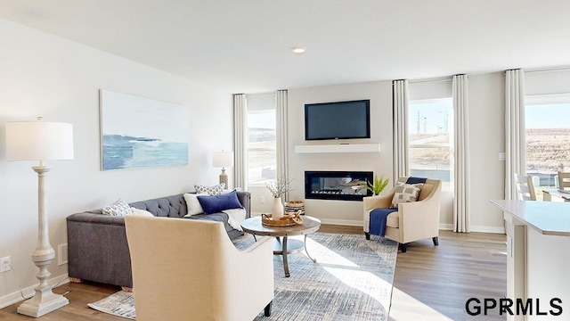
[[[408,80],[392,82],[394,107],[394,173],[392,182],[407,177],[408,169]]]

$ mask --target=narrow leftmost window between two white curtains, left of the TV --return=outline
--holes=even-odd
[[[248,184],[275,179],[275,95],[248,95]]]

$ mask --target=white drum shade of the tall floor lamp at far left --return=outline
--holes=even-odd
[[[41,120],[6,123],[6,159],[73,160],[73,126]]]

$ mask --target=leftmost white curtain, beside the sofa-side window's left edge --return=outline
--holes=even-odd
[[[245,94],[233,95],[233,150],[235,164],[233,181],[236,187],[248,190],[248,100]]]

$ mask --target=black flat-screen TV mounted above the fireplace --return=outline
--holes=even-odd
[[[371,101],[305,104],[305,140],[371,137]]]

